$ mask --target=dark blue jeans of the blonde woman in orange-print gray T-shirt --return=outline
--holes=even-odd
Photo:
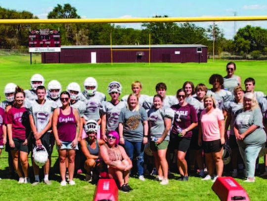
[[[131,159],[133,161],[134,153],[136,155],[136,163],[137,163],[137,175],[143,175],[144,174],[144,146],[142,142],[130,142],[126,139],[124,139],[124,149]]]

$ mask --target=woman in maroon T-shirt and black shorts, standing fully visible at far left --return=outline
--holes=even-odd
[[[9,146],[13,158],[14,168],[19,176],[18,183],[29,183],[28,178],[28,141],[29,135],[29,115],[24,108],[25,93],[19,86],[15,90],[14,105],[7,113],[7,133]],[[18,166],[18,156],[20,156],[21,169]]]

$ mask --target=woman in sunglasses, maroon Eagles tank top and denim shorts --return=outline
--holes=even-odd
[[[70,94],[63,91],[60,94],[61,108],[53,113],[52,127],[59,156],[59,169],[62,181],[61,186],[66,186],[66,158],[68,160],[69,184],[73,181],[75,150],[78,149],[78,136],[80,132],[80,117],[77,109],[70,107]]]

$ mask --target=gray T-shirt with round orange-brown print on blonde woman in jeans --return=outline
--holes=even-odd
[[[119,116],[119,123],[123,123],[124,139],[131,142],[141,142],[144,135],[142,121],[147,121],[147,114],[144,108],[141,107],[138,111],[123,108]]]

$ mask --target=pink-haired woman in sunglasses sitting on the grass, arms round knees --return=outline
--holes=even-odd
[[[120,137],[117,131],[109,131],[107,139],[106,144],[100,146],[100,157],[108,166],[109,177],[117,180],[120,190],[127,193],[132,190],[128,184],[132,161],[119,145]]]

